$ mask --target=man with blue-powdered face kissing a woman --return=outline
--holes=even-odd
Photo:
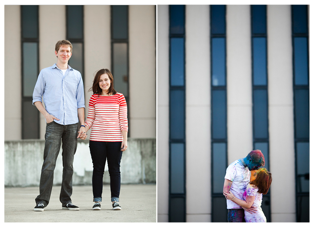
[[[251,170],[256,170],[265,165],[264,155],[260,150],[251,151],[246,157],[232,162],[225,175],[225,183],[223,192],[232,192],[238,199],[243,199],[243,193],[247,184],[250,182]],[[228,222],[245,222],[244,210],[254,213],[257,209],[252,206],[251,208],[241,208],[235,202],[227,199],[228,209]]]

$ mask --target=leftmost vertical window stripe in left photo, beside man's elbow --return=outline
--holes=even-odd
[[[39,111],[32,105],[39,74],[38,6],[21,6],[22,139],[39,139]]]

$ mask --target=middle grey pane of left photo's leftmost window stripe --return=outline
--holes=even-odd
[[[32,97],[38,77],[38,43],[23,42],[23,96]]]

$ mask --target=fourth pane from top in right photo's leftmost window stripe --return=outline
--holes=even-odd
[[[185,193],[185,161],[184,161],[184,144],[170,144],[170,193]]]

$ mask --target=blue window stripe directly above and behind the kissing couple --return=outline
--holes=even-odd
[[[251,6],[253,150],[261,150],[269,170],[267,7]],[[271,172],[271,171],[270,171]],[[271,188],[270,188],[271,189]],[[263,195],[262,209],[270,220],[270,190]]]

